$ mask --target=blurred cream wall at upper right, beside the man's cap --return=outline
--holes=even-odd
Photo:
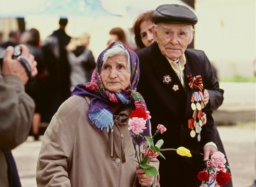
[[[255,71],[255,0],[199,0],[195,48],[214,61],[219,76]]]

